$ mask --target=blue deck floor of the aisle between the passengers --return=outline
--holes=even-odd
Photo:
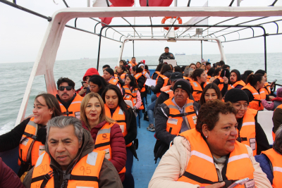
[[[147,95],[147,102],[151,104],[151,96]],[[138,121],[138,120],[137,120]],[[148,187],[149,181],[157,168],[159,163],[154,162],[154,132],[147,131],[149,122],[144,120],[143,116],[140,119],[140,128],[137,125],[137,139],[139,140],[139,147],[137,149],[137,156],[139,161],[134,158],[133,161],[133,177],[135,180],[135,188]]]

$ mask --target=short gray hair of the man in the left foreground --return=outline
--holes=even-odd
[[[47,123],[47,140],[51,127],[58,127],[60,129],[63,129],[64,127],[68,127],[69,125],[73,125],[73,127],[75,128],[75,136],[78,137],[78,142],[82,142],[83,127],[81,121],[78,118],[63,115],[51,118],[51,120],[49,120],[49,122]]]

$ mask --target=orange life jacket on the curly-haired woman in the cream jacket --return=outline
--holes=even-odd
[[[200,187],[219,182],[212,153],[209,150],[207,142],[202,138],[201,133],[192,129],[182,132],[180,136],[185,137],[190,142],[191,157],[188,161],[185,173],[177,181],[199,184]],[[241,180],[248,177],[250,180],[247,184],[253,183],[255,187],[255,181],[253,180],[255,169],[246,146],[239,142],[235,142],[234,146],[235,148],[230,153],[226,167],[227,180]],[[239,184],[236,188],[237,187],[243,188],[245,186],[244,184]]]

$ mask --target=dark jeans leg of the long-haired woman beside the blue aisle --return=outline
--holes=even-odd
[[[126,164],[125,164],[125,179],[123,180],[124,188],[134,188],[134,178],[132,175],[132,166],[133,166],[133,153],[130,149],[126,148]]]

